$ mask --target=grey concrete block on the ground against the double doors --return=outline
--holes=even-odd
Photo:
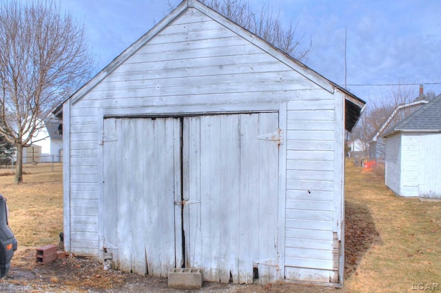
[[[201,289],[201,269],[175,268],[168,273],[168,287],[172,289]]]

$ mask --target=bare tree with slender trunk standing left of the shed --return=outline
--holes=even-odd
[[[84,33],[52,1],[0,4],[0,134],[17,148],[16,184],[23,182],[23,146],[90,78],[94,61]]]

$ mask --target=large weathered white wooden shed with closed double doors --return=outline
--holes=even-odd
[[[57,111],[65,248],[205,281],[338,286],[365,102],[195,0]]]

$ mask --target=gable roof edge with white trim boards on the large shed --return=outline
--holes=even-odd
[[[81,87],[81,89],[76,91],[76,93],[70,97],[70,102],[74,104],[75,102],[81,100],[81,98],[83,98],[83,96],[88,94],[88,92],[92,90],[97,84],[99,84],[101,80],[103,80],[106,76],[112,73],[122,63],[124,63],[128,58],[130,58],[130,56],[132,56],[141,47],[143,47],[143,45],[154,39],[155,36],[157,36],[162,30],[167,28],[168,25],[176,21],[176,19],[181,17],[189,9],[198,10],[198,12],[201,12],[206,17],[209,17],[210,19],[216,21],[220,25],[223,25],[225,28],[231,30],[232,32],[234,32],[234,34],[237,34],[238,36],[242,37],[249,43],[256,45],[256,47],[260,48],[260,50],[263,50],[267,54],[273,56],[281,63],[284,63],[294,71],[298,72],[298,74],[301,74],[302,76],[307,78],[307,80],[311,81],[311,83],[314,83],[319,87],[321,87],[322,89],[329,91],[331,94],[333,94],[334,91],[338,89],[338,91],[340,91],[346,98],[345,127],[348,131],[351,131],[351,129],[356,124],[358,118],[361,115],[362,109],[365,106],[365,101],[349,93],[349,91],[347,91],[346,89],[343,89],[342,87],[339,87],[335,83],[332,83],[330,80],[327,80],[327,78],[321,76],[320,74],[310,69],[306,65],[300,63],[299,61],[292,58],[288,54],[285,54],[284,52],[278,50],[273,45],[270,45],[263,39],[260,39],[258,36],[245,30],[236,23],[230,21],[229,19],[226,19],[222,15],[218,14],[218,12],[215,12],[214,10],[208,8],[207,6],[205,6],[205,4],[197,0],[183,0],[175,10],[170,12],[170,14],[168,14],[157,25],[155,25],[154,28],[152,28],[146,34],[141,36],[141,38],[138,41],[130,45],[130,47],[128,47],[124,52],[122,52],[119,56],[117,56],[109,65],[107,65],[103,70],[101,70],[101,72],[96,74],[96,76],[94,76],[92,80],[90,80],[83,87]],[[60,105],[54,111],[54,113],[57,116],[59,116],[61,114],[61,111],[62,111],[62,105]]]

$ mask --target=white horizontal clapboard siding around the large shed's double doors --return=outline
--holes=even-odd
[[[284,57],[271,56],[189,8],[81,100],[66,102],[67,248],[79,255],[100,253],[105,223],[99,219],[106,212],[100,206],[104,117],[278,111],[284,140],[279,149],[279,224],[285,226],[279,233],[280,263],[287,279],[337,283],[344,100],[340,91],[330,93],[293,70]]]

